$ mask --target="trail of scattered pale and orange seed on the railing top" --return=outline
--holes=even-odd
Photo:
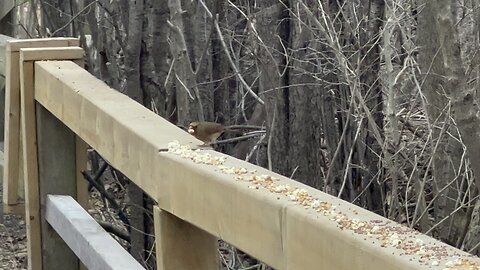
[[[380,247],[396,248],[402,252],[401,255],[419,256],[418,262],[424,265],[439,266],[440,261],[443,261],[445,263],[443,270],[480,270],[480,264],[466,256],[460,257],[459,254],[448,253],[446,246],[427,245],[423,240],[415,239],[414,237],[420,234],[418,231],[396,224],[389,225],[390,221],[349,218],[346,214],[336,211],[335,205],[313,197],[306,189],[282,184],[279,178],[267,174],[256,175],[256,170],[249,171],[242,167],[226,166],[227,158],[225,156],[214,156],[201,150],[192,150],[190,146],[181,145],[178,141],[168,144],[168,153],[190,159],[195,163],[216,166],[222,173],[232,175],[234,180],[248,182],[249,189],[264,189],[272,194],[281,194],[284,198],[305,209],[314,210],[316,213],[328,217],[341,230],[349,230],[359,235],[372,237],[380,242]],[[275,198],[279,200],[280,197],[277,195]],[[351,211],[358,215],[356,209]]]

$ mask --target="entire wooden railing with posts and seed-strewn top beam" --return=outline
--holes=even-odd
[[[85,71],[71,41],[57,48],[24,42],[7,50],[7,89],[21,97],[31,269],[77,269],[77,257],[92,269],[99,264],[89,258],[112,261],[102,245],[75,246],[89,241],[89,230],[71,226],[67,237],[69,211],[95,224],[69,197],[52,196],[85,203],[86,144],[156,201],[159,269],[217,269],[218,238],[276,269],[480,269],[478,258],[360,207],[213,150],[192,150],[201,142]],[[7,158],[18,168],[18,157]]]

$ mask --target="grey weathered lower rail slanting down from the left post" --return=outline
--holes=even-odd
[[[48,195],[45,218],[88,269],[144,269],[72,197]]]

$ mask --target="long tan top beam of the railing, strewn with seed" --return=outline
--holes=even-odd
[[[479,259],[212,150],[69,61],[35,64],[35,99],[162,209],[278,269],[460,269]],[[173,141],[178,142],[173,142]]]

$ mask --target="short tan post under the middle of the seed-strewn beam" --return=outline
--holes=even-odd
[[[159,270],[216,270],[218,240],[211,234],[154,206]]]

